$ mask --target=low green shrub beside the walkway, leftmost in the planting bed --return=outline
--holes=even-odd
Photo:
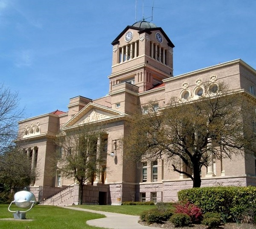
[[[151,209],[145,211],[140,215],[140,219],[147,223],[163,223],[169,220],[173,215],[172,210],[167,210],[165,212],[160,212],[158,209]]]

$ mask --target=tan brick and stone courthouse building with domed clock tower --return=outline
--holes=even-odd
[[[85,185],[84,203],[118,205],[132,199],[175,201],[177,191],[192,188],[189,178],[173,171],[165,160],[132,164],[124,159],[120,139],[128,134],[129,116],[138,106],[146,112],[146,105],[151,100],[156,101],[157,109],[168,104],[173,96],[197,99],[204,93],[204,83],[218,86],[220,81],[225,81],[231,90],[244,90],[256,99],[256,70],[241,59],[173,75],[175,46],[163,29],[153,23],[141,21],[127,26],[112,45],[107,96],[95,100],[86,95],[76,96],[67,104],[67,112],[56,110],[19,122],[23,150],[30,157],[32,168],[38,172],[29,190],[39,201],[78,202],[76,182],[52,171],[52,155],[56,150],[53,139],[60,131],[90,122],[104,124],[105,134],[101,140],[107,142],[107,149],[104,162],[97,165],[102,172],[96,175],[93,183]],[[248,157],[213,160],[208,168],[203,167],[202,186],[256,186],[256,158]]]

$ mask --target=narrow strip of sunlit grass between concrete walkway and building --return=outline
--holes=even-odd
[[[142,212],[155,208],[154,205],[76,205],[73,207],[102,212],[114,212],[125,215],[140,215]]]

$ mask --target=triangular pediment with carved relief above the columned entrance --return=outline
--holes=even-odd
[[[89,103],[70,119],[61,129],[75,127],[92,122],[111,121],[118,117],[126,116],[125,113],[113,110],[99,104]],[[113,120],[112,120],[113,121]]]

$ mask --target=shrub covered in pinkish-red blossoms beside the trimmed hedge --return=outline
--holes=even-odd
[[[203,213],[198,206],[189,202],[180,202],[175,205],[176,213],[185,213],[189,215],[192,223],[200,223],[203,217]]]

